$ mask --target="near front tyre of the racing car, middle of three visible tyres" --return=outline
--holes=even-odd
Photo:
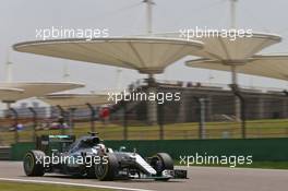
[[[118,159],[112,153],[104,156],[106,159],[99,164],[95,164],[95,175],[100,181],[111,181],[118,174]]]

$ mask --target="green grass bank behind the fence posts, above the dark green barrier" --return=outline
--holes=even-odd
[[[133,126],[132,126],[133,122]],[[159,126],[135,126],[135,121],[131,121],[128,128],[129,140],[157,140],[159,139]],[[140,123],[139,123],[140,124]],[[26,124],[28,127],[28,124]],[[86,134],[89,130],[89,122],[79,122],[74,126],[74,134],[76,136]],[[100,122],[96,122],[96,130],[104,140],[122,140],[123,127],[117,123],[110,123],[104,127]],[[240,122],[206,122],[206,139],[220,138],[241,138]],[[40,134],[59,134],[60,130],[40,130]],[[32,130],[25,130],[19,133],[20,141],[32,141]],[[166,140],[183,140],[197,139],[199,123],[173,123],[164,126],[164,134]],[[287,138],[288,120],[287,119],[267,119],[267,120],[250,120],[247,121],[247,138]],[[0,132],[0,144],[9,145],[14,141],[14,132]]]

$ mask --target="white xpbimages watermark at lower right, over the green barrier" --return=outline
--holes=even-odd
[[[204,155],[201,155],[199,153],[195,153],[194,155],[184,155],[179,157],[180,165],[184,166],[194,166],[194,165],[216,165],[216,166],[229,166],[231,168],[235,168],[239,165],[251,165],[253,163],[253,156],[248,155],[221,155],[221,156],[215,156],[215,155],[208,155],[205,153]]]

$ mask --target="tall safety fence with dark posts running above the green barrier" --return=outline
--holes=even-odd
[[[157,92],[180,92],[181,100],[4,110],[0,118],[0,145],[29,142],[41,134],[83,135],[89,131],[97,131],[104,140],[288,136],[288,97],[285,94],[171,86],[159,86]]]

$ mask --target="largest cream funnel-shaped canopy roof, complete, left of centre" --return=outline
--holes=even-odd
[[[17,51],[135,69],[148,74],[161,73],[167,65],[202,47],[200,41],[164,37],[58,39],[13,46]]]

